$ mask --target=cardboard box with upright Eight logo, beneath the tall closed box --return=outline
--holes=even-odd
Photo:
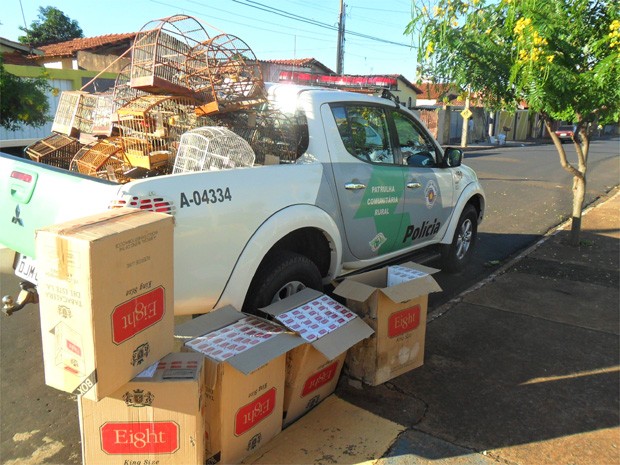
[[[169,354],[99,402],[80,396],[82,463],[204,464],[203,362]]]

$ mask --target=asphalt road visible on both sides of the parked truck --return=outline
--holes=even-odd
[[[574,148],[566,147],[575,158]],[[593,142],[586,203],[619,183],[619,154],[618,138]],[[444,291],[431,296],[431,312],[534,243],[571,211],[571,178],[552,145],[472,151],[466,163],[486,190],[486,218],[472,265],[459,275],[435,276]],[[17,286],[8,252],[0,249],[0,295]],[[44,383],[35,306],[0,318],[0,418],[2,464],[81,463],[75,401]]]

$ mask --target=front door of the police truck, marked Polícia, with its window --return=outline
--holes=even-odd
[[[404,216],[395,248],[419,248],[443,236],[454,207],[453,169],[440,167],[428,131],[410,115],[392,110],[397,151],[405,166]]]

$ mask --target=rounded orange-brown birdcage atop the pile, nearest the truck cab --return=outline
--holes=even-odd
[[[188,82],[207,101],[200,107],[204,114],[236,111],[266,101],[260,64],[240,38],[230,34],[217,35],[196,46],[187,61],[191,63],[188,69],[193,70]],[[206,66],[201,67],[203,63]],[[207,86],[199,87],[201,82]]]

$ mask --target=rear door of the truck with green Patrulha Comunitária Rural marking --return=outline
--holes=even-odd
[[[389,109],[338,103],[321,111],[349,250],[358,260],[389,253],[400,239],[406,170],[395,163]]]

